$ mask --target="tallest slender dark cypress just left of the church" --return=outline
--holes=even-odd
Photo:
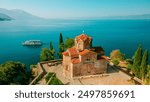
[[[59,36],[59,52],[58,52],[59,58],[62,58],[62,52],[64,52],[64,42],[63,42],[62,33],[60,33],[60,36]]]

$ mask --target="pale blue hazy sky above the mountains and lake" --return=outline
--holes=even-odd
[[[45,18],[101,17],[150,13],[150,0],[0,0],[0,8]]]

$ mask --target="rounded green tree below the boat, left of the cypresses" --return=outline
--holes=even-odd
[[[40,61],[48,61],[50,60],[50,51],[47,48],[43,48],[40,54]]]

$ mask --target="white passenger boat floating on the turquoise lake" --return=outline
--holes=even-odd
[[[42,46],[42,44],[40,40],[27,40],[22,43],[23,46]]]

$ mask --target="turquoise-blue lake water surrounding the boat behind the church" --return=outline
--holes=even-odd
[[[102,46],[106,55],[120,49],[132,57],[141,44],[150,51],[150,20],[44,20],[0,22],[0,63],[21,61],[27,65],[39,61],[41,49],[52,41],[58,51],[59,34],[74,38],[85,31],[94,46]],[[41,40],[42,47],[25,47],[25,40]]]

